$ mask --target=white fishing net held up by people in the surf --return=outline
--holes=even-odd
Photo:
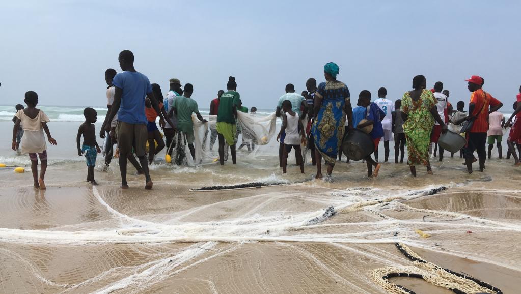
[[[194,149],[195,159],[190,155],[186,136],[178,132],[174,137],[172,148],[172,163],[178,165],[195,166],[217,162],[219,160],[219,139],[217,136],[217,116],[204,117],[203,123],[194,115]],[[276,131],[275,112],[266,117],[257,117],[250,113],[237,113],[237,134],[235,134],[235,148],[238,149],[237,158],[253,157],[262,146],[268,145],[274,138]],[[260,147],[260,148],[259,148]],[[239,149],[241,151],[239,152]],[[244,152],[242,151],[244,149]],[[229,155],[229,146],[225,145],[225,159]]]

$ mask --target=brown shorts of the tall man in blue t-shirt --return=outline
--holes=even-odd
[[[116,126],[116,138],[118,139],[120,154],[129,154],[129,152],[132,152],[132,147],[134,147],[135,155],[138,157],[145,156],[148,138],[146,124],[132,124],[118,121]]]

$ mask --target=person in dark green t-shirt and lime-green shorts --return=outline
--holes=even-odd
[[[230,76],[227,84],[228,92],[221,95],[219,101],[219,109],[217,111],[217,135],[219,137],[219,163],[225,164],[225,141],[230,146],[231,159],[233,164],[235,161],[235,134],[237,133],[237,106],[239,105],[239,93],[235,78]]]

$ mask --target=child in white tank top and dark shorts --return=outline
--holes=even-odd
[[[291,101],[284,100],[282,102],[282,127],[277,135],[277,141],[282,133],[286,133],[284,137],[284,149],[282,153],[282,173],[286,173],[288,167],[288,154],[292,148],[295,149],[295,157],[297,164],[300,166],[300,172],[304,173],[304,160],[302,158],[301,143],[306,146],[306,136],[304,135],[304,127],[299,113],[291,110]]]

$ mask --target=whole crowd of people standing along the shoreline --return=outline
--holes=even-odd
[[[138,174],[145,176],[145,189],[153,186],[148,164],[154,156],[166,148],[166,158],[171,158],[176,142],[184,142],[195,158],[194,123],[192,116],[206,123],[192,98],[194,87],[179,79],[170,79],[170,88],[166,96],[158,84],[151,84],[148,78],[135,70],[134,55],[129,50],[123,50],[118,57],[123,72],[114,69],[105,72],[107,82],[108,111],[100,130],[100,137],[105,138],[103,149],[105,162],[103,169],[108,169],[111,159],[119,152],[119,169],[121,173],[121,188],[128,188],[127,160],[131,162]],[[388,162],[390,142],[394,142],[395,163],[403,163],[405,146],[407,146],[411,174],[416,176],[416,165],[424,165],[427,173],[432,174],[430,158],[439,153],[439,161],[443,160],[444,150],[438,146],[441,134],[448,130],[462,134],[467,144],[460,150],[460,157],[469,173],[473,172],[473,163],[478,161],[479,170],[485,169],[487,159],[491,157],[493,145],[497,144],[499,157],[502,158],[503,127],[511,126],[507,139],[507,158],[514,157],[519,165],[521,157],[521,93],[517,95],[514,113],[508,120],[498,110],[503,104],[483,90],[485,81],[473,75],[468,82],[468,90],[472,92],[468,104],[468,112],[464,110],[465,103],[458,101],[456,110],[449,102],[448,90],[443,89],[441,82],[436,82],[431,90],[427,90],[427,80],[423,75],[417,75],[412,81],[412,90],[406,91],[401,99],[392,101],[387,98],[387,90],[379,88],[378,98],[371,101],[371,93],[363,90],[359,93],[356,107],[351,104],[351,93],[345,83],[337,80],[339,66],[329,62],[324,66],[325,82],[319,83],[313,78],[306,81],[306,91],[295,93],[293,84],[286,86],[276,107],[276,116],[282,120],[282,127],[277,135],[279,144],[279,165],[283,173],[287,172],[288,154],[295,151],[296,163],[304,173],[303,152],[309,151],[313,165],[316,165],[316,178],[322,178],[322,159],[331,175],[334,165],[342,162],[341,146],[344,138],[355,129],[367,133],[374,143],[374,159],[367,155],[369,177],[376,177],[381,168],[378,156],[378,146],[383,140],[384,162]],[[521,92],[521,88],[519,89]],[[49,132],[45,113],[36,108],[38,94],[29,91],[24,102],[27,108],[17,105],[17,113],[13,121],[14,150],[28,153],[31,159],[31,170],[34,186],[44,189],[44,176],[47,165],[47,154],[44,132],[49,143],[56,145],[56,140]],[[216,116],[216,127],[210,129],[210,149],[216,140],[219,146],[219,163],[224,165],[228,148],[232,163],[235,164],[238,134],[238,111],[247,112],[242,106],[240,94],[237,92],[235,78],[230,76],[227,91],[219,90],[217,98],[210,103],[210,116]],[[250,113],[255,114],[252,107]],[[96,185],[94,166],[96,156],[101,152],[96,143],[94,122],[97,113],[92,108],[84,110],[85,122],[78,130],[78,155],[84,156],[88,166],[87,181]],[[156,119],[163,134],[159,131]],[[513,119],[516,118],[514,121]],[[83,144],[81,143],[83,137]],[[176,137],[178,140],[176,140]],[[114,144],[118,148],[114,149]],[[148,146],[147,146],[148,145]],[[254,150],[255,140],[249,134],[243,133],[242,148]],[[519,156],[515,148],[519,150]],[[226,150],[225,150],[226,149]],[[225,152],[226,151],[226,152]],[[478,158],[473,155],[477,151]],[[134,157],[135,155],[135,157]],[[454,154],[451,154],[453,157]],[[136,159],[137,157],[137,159]],[[41,172],[38,176],[38,158],[41,161]],[[338,160],[337,160],[338,158]],[[349,162],[350,158],[347,158]],[[168,161],[168,160],[167,160]],[[176,159],[174,159],[177,162]],[[374,169],[374,170],[373,170]]]

